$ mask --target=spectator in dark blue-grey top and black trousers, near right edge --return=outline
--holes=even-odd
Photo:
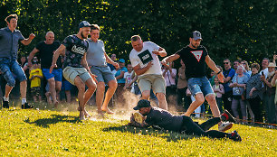
[[[253,63],[251,65],[252,75],[246,83],[246,99],[253,110],[254,121],[263,122],[262,105],[263,99],[263,83],[261,75],[258,73],[260,65]]]

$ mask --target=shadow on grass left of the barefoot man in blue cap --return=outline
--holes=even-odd
[[[51,115],[51,117],[38,119],[33,122],[30,122],[30,119],[25,119],[25,123],[28,124],[34,124],[41,127],[49,128],[49,125],[61,123],[61,122],[67,122],[67,123],[77,123],[80,122],[79,117],[77,116],[71,116],[71,115]]]

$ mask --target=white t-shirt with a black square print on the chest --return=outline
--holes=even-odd
[[[134,49],[129,53],[129,60],[132,67],[136,67],[138,64],[140,68],[144,68],[148,65],[148,62],[153,60],[153,65],[144,74],[157,74],[162,75],[160,63],[158,60],[158,55],[152,53],[152,51],[158,51],[159,46],[154,42],[143,42],[143,48],[141,51],[135,51]]]

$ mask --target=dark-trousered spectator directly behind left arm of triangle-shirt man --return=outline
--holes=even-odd
[[[177,80],[177,106],[182,106],[185,111],[191,103],[190,97],[186,96],[187,81],[186,81],[186,65],[183,60],[180,60],[181,67],[178,69]]]

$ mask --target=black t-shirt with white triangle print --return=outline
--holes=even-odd
[[[188,45],[176,52],[186,65],[186,78],[205,77],[205,56],[208,55],[205,47],[200,45],[191,49]]]

